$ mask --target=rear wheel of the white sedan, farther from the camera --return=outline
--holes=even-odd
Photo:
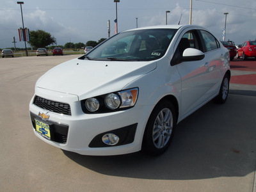
[[[228,76],[228,74],[225,74],[220,86],[219,94],[216,97],[214,97],[214,99],[212,99],[214,102],[218,104],[223,104],[226,102],[228,98],[229,81],[230,81],[230,77]]]

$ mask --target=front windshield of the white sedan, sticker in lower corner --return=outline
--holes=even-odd
[[[177,29],[141,29],[109,38],[80,59],[150,61],[161,58]]]

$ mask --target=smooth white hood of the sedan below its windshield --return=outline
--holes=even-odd
[[[77,95],[79,100],[122,90],[156,68],[156,61],[70,60],[52,68],[36,88]]]

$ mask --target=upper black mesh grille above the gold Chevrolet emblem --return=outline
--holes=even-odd
[[[53,100],[44,99],[42,97],[35,96],[33,104],[35,104],[39,108],[46,109],[54,113],[71,115],[71,109],[69,104],[65,104],[63,102],[56,102]]]

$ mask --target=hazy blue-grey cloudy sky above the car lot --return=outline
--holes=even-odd
[[[256,39],[256,1],[193,0],[192,24],[204,26],[218,39],[222,37],[227,15],[226,40],[242,44]],[[165,24],[189,24],[190,0],[120,0],[118,3],[118,32],[138,27]],[[108,20],[111,35],[115,31],[115,3],[113,0],[24,0],[24,26],[30,30],[42,29],[51,33],[58,45],[67,42],[98,41],[108,38]],[[20,5],[17,1],[0,0],[0,48],[24,47],[19,42],[18,28],[22,27]]]

